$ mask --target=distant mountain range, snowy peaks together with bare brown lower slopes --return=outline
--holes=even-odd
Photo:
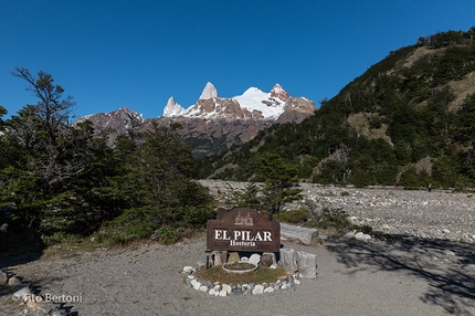
[[[109,144],[129,128],[145,131],[152,123],[168,126],[179,123],[184,140],[194,144],[193,155],[203,157],[219,154],[233,144],[243,144],[254,138],[262,129],[273,124],[299,123],[317,108],[305,97],[293,97],[278,84],[270,92],[250,87],[242,95],[219,97],[212,83],[207,83],[197,103],[188,108],[179,105],[173,97],[167,102],[163,116],[144,119],[127,108],[110,113],[99,113],[80,118],[93,123],[97,134],[109,133]]]

